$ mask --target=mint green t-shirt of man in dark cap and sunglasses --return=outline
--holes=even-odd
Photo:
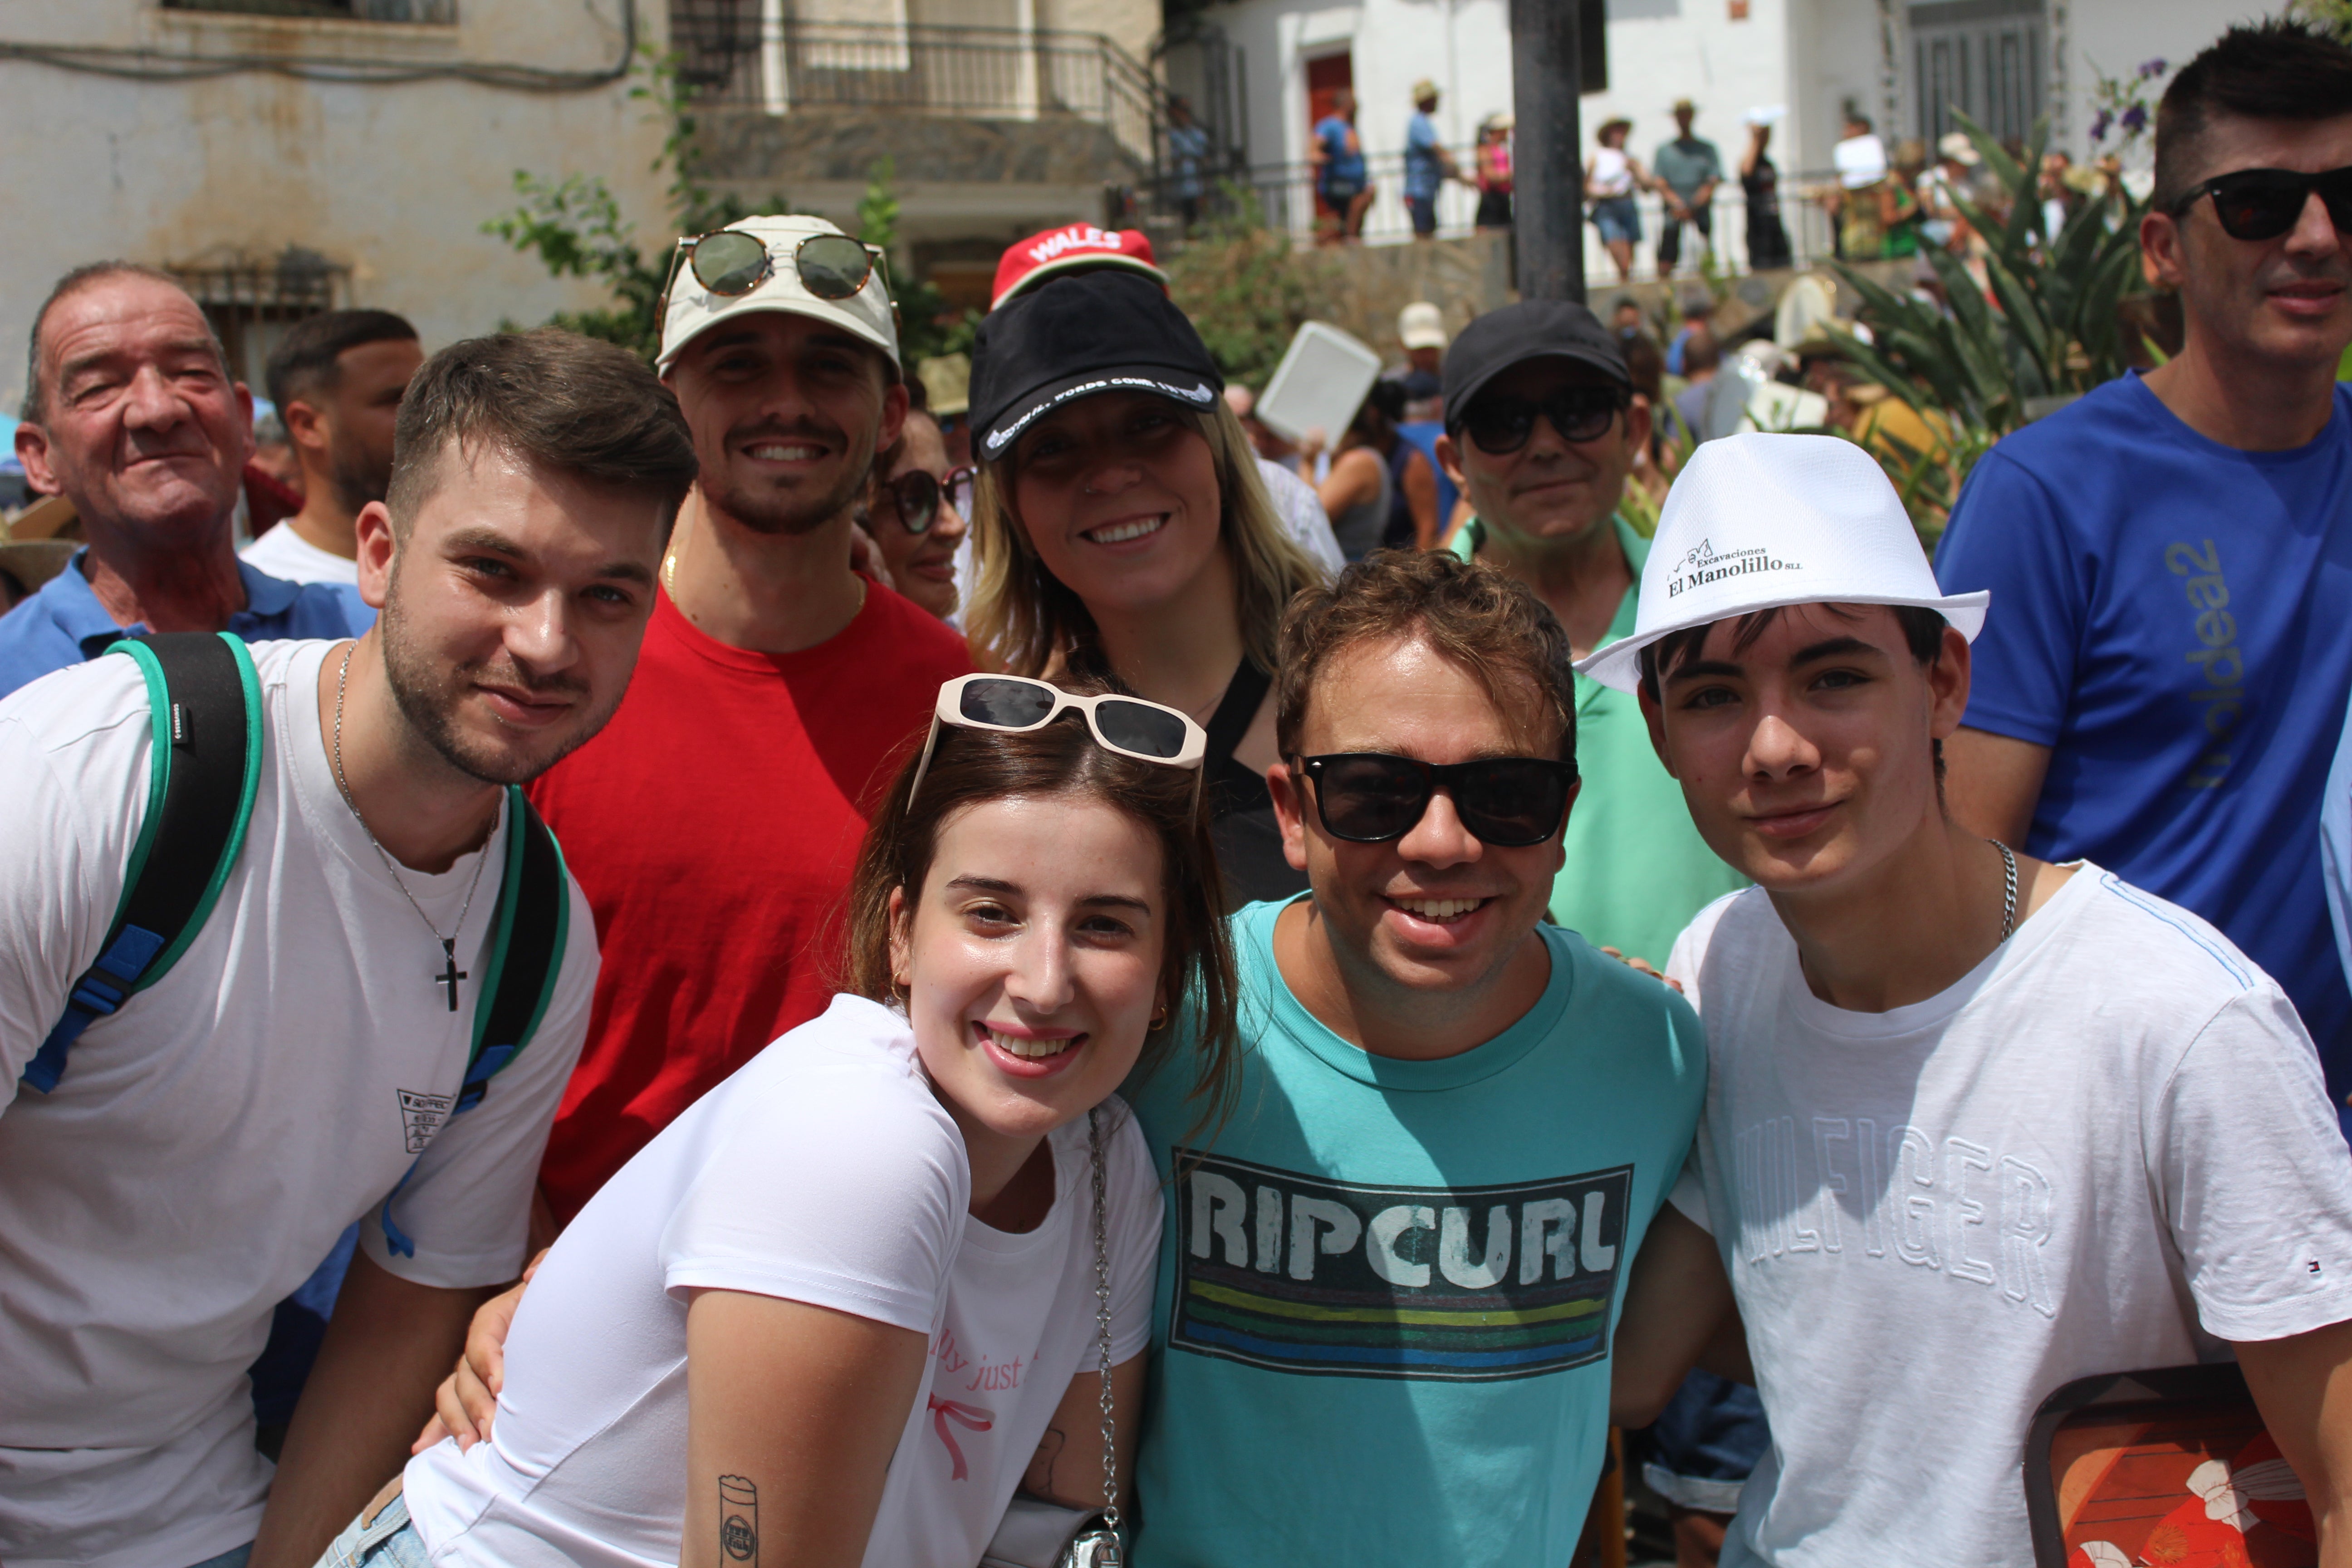
[[[1623,515],[1609,522],[1635,581],[1609,623],[1604,642],[1616,642],[1632,637],[1649,541]],[[1472,559],[1484,541],[1486,524],[1472,517],[1449,548]],[[1724,893],[1738,893],[1748,877],[1698,837],[1682,785],[1658,762],[1632,691],[1576,677],[1576,771],[1585,788],[1569,811],[1562,839],[1569,858],[1552,879],[1552,919],[1581,931],[1595,947],[1616,947],[1665,969],[1665,954],[1691,917]]]

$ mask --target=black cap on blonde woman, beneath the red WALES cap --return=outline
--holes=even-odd
[[[1016,294],[971,343],[971,440],[1002,458],[1047,409],[1096,393],[1155,393],[1209,409],[1225,376],[1192,322],[1148,277],[1075,273]]]

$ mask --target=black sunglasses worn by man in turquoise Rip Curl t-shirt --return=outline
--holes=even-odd
[[[1496,849],[1526,849],[1559,832],[1576,790],[1576,764],[1550,757],[1479,757],[1430,764],[1383,752],[1301,757],[1315,780],[1315,816],[1324,832],[1350,844],[1385,844],[1411,832],[1439,788],[1454,795],[1454,816]]]

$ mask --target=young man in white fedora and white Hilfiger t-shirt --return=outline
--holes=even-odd
[[[1726,1566],[2030,1568],[2037,1406],[2234,1347],[2352,1561],[2352,1166],[2284,992],[2194,914],[1950,820],[1987,595],[1938,595],[1858,447],[1708,442],[1649,559],[1635,635],[1581,668],[1639,686],[1757,886],[1668,966],[1708,1103],[1618,1418],[1745,1321],[1773,1448]]]

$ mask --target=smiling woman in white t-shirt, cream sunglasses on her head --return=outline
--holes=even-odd
[[[1152,703],[948,682],[844,994],[597,1192],[487,1441],[419,1453],[322,1563],[971,1568],[1016,1490],[1103,1507],[1101,1368],[1124,1476],[1160,1246],[1112,1088],[1176,1006],[1204,1119],[1230,1081],[1204,748]]]

